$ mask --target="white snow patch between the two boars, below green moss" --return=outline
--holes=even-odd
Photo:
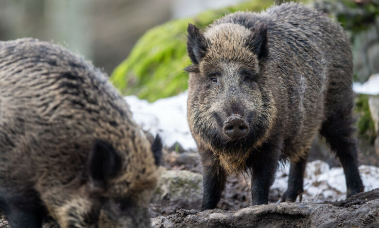
[[[152,134],[159,133],[164,145],[171,147],[179,142],[186,150],[196,148],[187,123],[187,92],[153,103],[136,96],[125,97],[125,100],[133,113],[133,119],[144,130]]]

